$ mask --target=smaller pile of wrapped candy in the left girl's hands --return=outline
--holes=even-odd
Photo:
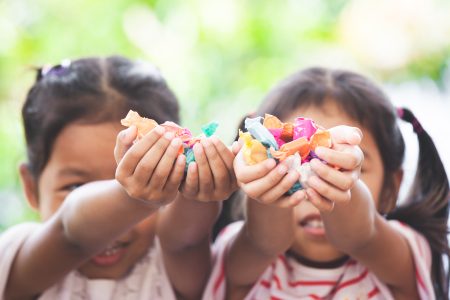
[[[138,135],[137,140],[140,140],[144,135],[149,133],[153,128],[158,126],[158,123],[155,120],[141,117],[137,112],[130,110],[125,117],[122,119],[120,123],[123,126],[130,127],[132,125],[136,126]],[[186,156],[186,168],[189,163],[195,161],[193,147],[196,143],[200,142],[202,137],[210,137],[216,132],[217,127],[219,126],[217,122],[211,122],[204,126],[202,126],[202,134],[199,136],[192,136],[192,133],[189,129],[183,128],[174,122],[166,121],[161,124],[162,127],[166,130],[166,132],[173,132],[175,137],[178,137],[182,141],[182,146],[180,147],[179,154],[184,154]]]

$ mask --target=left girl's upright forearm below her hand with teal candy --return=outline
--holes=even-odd
[[[177,297],[200,299],[211,270],[210,234],[221,202],[200,202],[178,194],[158,215],[157,235]]]

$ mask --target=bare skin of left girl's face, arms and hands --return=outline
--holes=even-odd
[[[211,172],[216,161],[208,158],[221,157],[215,145],[223,144],[198,145],[199,163],[191,167],[182,185],[185,158],[178,156],[179,139],[157,127],[133,144],[136,128],[119,130],[116,123],[69,124],[56,138],[37,180],[21,165],[26,197],[43,223],[19,249],[5,299],[33,299],[74,269],[88,278],[122,278],[147,253],[159,227],[164,229],[160,237],[164,262],[169,278],[174,279],[176,295],[179,299],[198,298],[210,269],[209,260],[200,257],[209,255],[205,240],[220,207],[218,199],[226,198],[233,189],[232,168],[225,163],[218,168],[229,180],[223,185],[211,183],[216,179]],[[230,166],[234,155],[230,151],[227,155]],[[205,178],[207,172],[211,177]],[[202,188],[211,185],[212,192]],[[214,197],[206,199],[206,195]],[[171,226],[167,221],[158,226],[159,220],[168,218],[166,214],[178,211],[178,202],[183,203],[181,208],[195,207],[198,214],[206,214],[201,224],[190,219],[184,220],[188,224],[174,222],[172,228],[178,234],[191,233],[189,243],[167,235]],[[173,208],[160,212],[162,206]],[[107,266],[94,263],[94,256],[117,244],[123,251],[117,262]],[[170,250],[186,248],[190,249],[184,256],[188,262],[173,263]],[[193,276],[180,284],[174,275],[177,272]]]

